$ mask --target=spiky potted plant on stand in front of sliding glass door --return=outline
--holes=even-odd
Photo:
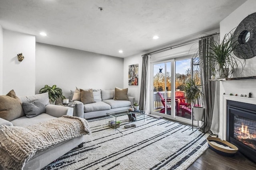
[[[204,107],[200,106],[200,98],[203,96],[202,84],[193,78],[188,78],[185,82],[184,92],[188,103],[192,104],[194,111],[194,120],[201,121],[204,115]]]

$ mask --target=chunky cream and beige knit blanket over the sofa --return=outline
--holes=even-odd
[[[0,126],[0,164],[4,169],[22,170],[38,151],[91,131],[86,119],[64,115],[27,127]]]

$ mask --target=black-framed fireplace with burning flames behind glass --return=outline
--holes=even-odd
[[[226,139],[256,162],[256,105],[227,100]]]

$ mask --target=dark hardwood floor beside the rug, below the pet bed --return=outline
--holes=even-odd
[[[187,170],[256,170],[256,164],[240,152],[226,157],[208,148]]]

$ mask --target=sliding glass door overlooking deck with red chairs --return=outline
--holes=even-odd
[[[191,104],[184,93],[188,78],[200,81],[200,67],[192,56],[152,64],[152,113],[192,123]]]

